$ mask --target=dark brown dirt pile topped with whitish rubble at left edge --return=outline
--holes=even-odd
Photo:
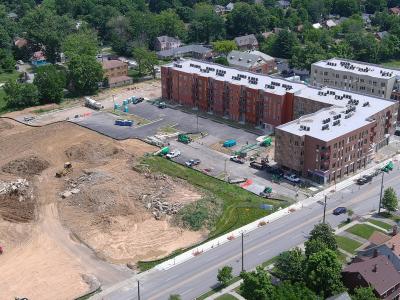
[[[28,181],[0,182],[0,216],[4,220],[27,223],[35,219],[35,210],[33,189]]]

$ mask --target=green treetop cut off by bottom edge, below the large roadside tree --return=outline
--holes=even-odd
[[[274,287],[268,299],[271,300],[318,300],[319,297],[303,283],[284,281]]]

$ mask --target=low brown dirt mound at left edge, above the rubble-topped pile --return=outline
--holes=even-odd
[[[49,166],[49,162],[37,156],[28,156],[10,161],[9,163],[5,164],[1,170],[5,173],[18,176],[33,176],[39,175]]]

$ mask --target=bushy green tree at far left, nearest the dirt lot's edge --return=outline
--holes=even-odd
[[[39,93],[35,85],[8,81],[4,85],[8,108],[24,108],[39,104]]]

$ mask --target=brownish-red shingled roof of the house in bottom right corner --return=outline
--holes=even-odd
[[[383,255],[352,263],[343,270],[343,273],[359,273],[379,295],[385,294],[400,283],[400,273]]]

